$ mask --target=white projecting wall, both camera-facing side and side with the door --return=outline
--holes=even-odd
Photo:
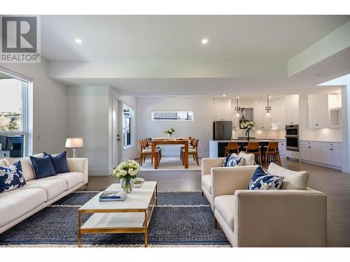
[[[70,86],[67,88],[67,136],[84,139],[84,147],[78,148],[78,157],[89,158],[89,175],[110,175],[112,172],[112,124],[113,96],[136,112],[134,96],[120,96],[108,86]],[[137,147],[123,150],[123,110],[118,112],[120,161],[135,159]],[[136,138],[136,129],[134,129]],[[136,139],[135,139],[136,141]],[[136,143],[135,143],[136,144]],[[70,152],[71,153],[71,152]]]

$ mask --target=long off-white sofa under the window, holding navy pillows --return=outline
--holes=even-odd
[[[39,154],[40,155],[40,154]],[[29,157],[0,159],[0,166],[20,160],[26,186],[0,194],[0,233],[87,184],[87,159],[67,159],[69,173],[35,180]]]

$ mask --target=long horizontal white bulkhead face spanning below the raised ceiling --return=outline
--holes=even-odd
[[[69,62],[51,61],[50,78],[279,78],[286,61]]]

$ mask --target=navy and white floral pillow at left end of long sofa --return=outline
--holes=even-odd
[[[11,166],[0,166],[0,193],[24,186],[25,177],[23,177],[20,161]]]

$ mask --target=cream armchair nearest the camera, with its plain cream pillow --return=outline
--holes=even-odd
[[[221,226],[231,245],[325,247],[327,198],[325,194],[307,188],[309,174],[271,163],[268,173],[285,176],[282,188],[246,190],[255,168],[211,170],[214,222]]]

